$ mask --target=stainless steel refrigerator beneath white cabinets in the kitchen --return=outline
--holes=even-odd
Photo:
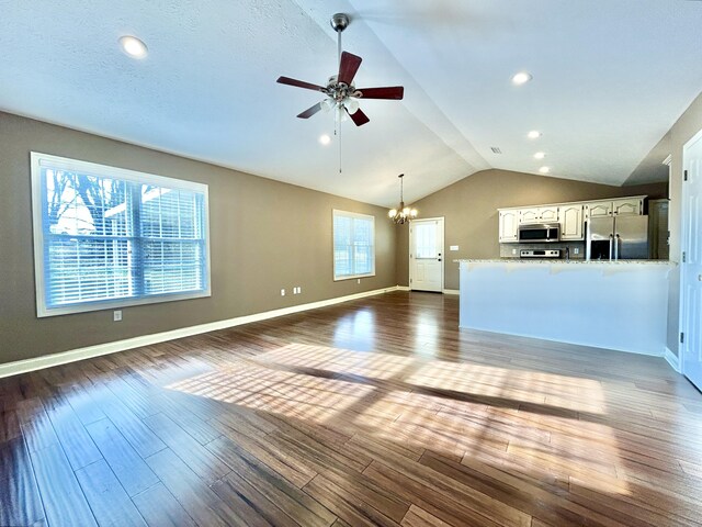
[[[607,216],[588,221],[588,260],[648,258],[648,216]]]

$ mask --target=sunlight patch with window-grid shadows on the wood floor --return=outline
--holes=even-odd
[[[614,434],[587,421],[605,413],[590,379],[291,344],[166,388],[464,464],[629,493]]]

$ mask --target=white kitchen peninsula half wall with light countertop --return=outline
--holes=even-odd
[[[663,356],[663,260],[457,260],[462,328]]]

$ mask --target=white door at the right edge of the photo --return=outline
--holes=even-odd
[[[702,131],[684,146],[680,268],[682,372],[702,390]]]

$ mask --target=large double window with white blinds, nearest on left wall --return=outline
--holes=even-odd
[[[207,186],[32,153],[38,316],[210,295]]]

